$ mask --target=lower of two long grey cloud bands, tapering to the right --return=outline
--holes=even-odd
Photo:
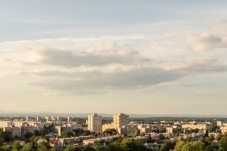
[[[48,79],[40,83],[33,83],[35,85],[44,86],[53,90],[69,91],[71,93],[100,92],[110,89],[138,89],[140,87],[175,81],[183,77],[180,73],[153,67],[133,68],[128,71],[115,73],[104,73],[100,71],[44,71],[30,74],[46,77],[46,79]]]

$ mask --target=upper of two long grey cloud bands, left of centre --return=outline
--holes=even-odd
[[[53,66],[103,66],[107,64],[132,64],[148,62],[149,59],[141,58],[136,51],[121,51],[105,53],[82,52],[73,54],[72,51],[43,50],[39,52],[40,60],[38,64],[48,64]]]

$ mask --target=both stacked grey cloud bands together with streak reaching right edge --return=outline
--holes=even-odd
[[[56,69],[28,72],[44,78],[33,85],[73,94],[137,89],[173,82],[188,74],[227,71],[227,66],[215,59],[186,61],[178,68],[165,70],[162,66],[155,67],[151,59],[140,56],[134,50],[78,53],[45,49],[38,51],[38,55],[41,59],[37,60],[37,64]]]

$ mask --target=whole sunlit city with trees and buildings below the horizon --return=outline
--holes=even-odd
[[[1,150],[224,151],[227,144],[220,117],[1,117],[0,129]]]

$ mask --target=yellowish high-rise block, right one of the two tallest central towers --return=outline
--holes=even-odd
[[[129,116],[124,113],[118,113],[113,116],[114,128],[120,128],[121,126],[129,123]]]

